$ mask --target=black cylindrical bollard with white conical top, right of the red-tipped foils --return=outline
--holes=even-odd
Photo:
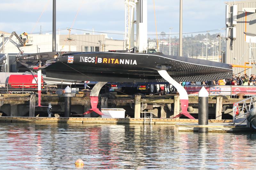
[[[208,96],[203,86],[198,92],[198,125],[208,125]],[[208,132],[208,128],[198,128],[198,132]]]

